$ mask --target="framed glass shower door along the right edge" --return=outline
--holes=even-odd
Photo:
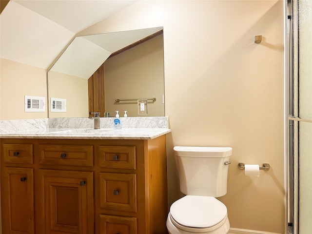
[[[289,234],[312,230],[312,1],[288,1]]]

